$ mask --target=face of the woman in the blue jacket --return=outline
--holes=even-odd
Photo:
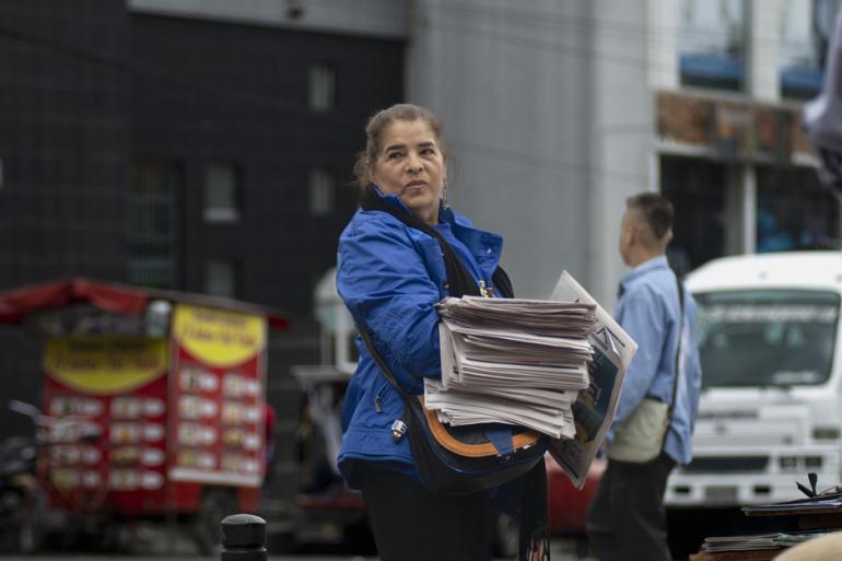
[[[446,175],[438,139],[423,119],[396,120],[383,132],[372,182],[428,224],[438,222],[438,199]]]

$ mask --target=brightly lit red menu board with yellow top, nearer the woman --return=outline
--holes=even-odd
[[[260,487],[265,319],[178,305],[172,330],[169,478]]]

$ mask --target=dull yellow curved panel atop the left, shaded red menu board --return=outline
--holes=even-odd
[[[55,381],[84,394],[130,391],[166,374],[165,339],[84,337],[50,339],[44,370]]]

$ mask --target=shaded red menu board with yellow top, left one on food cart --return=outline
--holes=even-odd
[[[54,505],[124,514],[164,504],[167,341],[62,338],[47,342],[42,476]],[[83,439],[86,434],[98,435]]]

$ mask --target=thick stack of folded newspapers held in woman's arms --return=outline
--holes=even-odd
[[[588,387],[594,304],[465,296],[445,299],[442,379],[424,402],[452,425],[502,422],[573,437],[573,404]]]

